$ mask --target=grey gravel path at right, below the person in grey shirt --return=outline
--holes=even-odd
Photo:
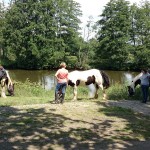
[[[150,102],[146,104],[141,103],[140,101],[135,100],[121,100],[121,101],[107,101],[106,103],[108,106],[119,106],[123,108],[132,109],[135,112],[142,113],[144,115],[150,116]]]

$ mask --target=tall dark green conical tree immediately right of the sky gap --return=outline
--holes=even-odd
[[[125,0],[111,0],[98,21],[97,63],[105,69],[124,69],[128,63],[130,7]]]

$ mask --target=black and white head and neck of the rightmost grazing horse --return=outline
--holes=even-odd
[[[148,71],[150,73],[150,71]],[[137,85],[141,84],[140,77],[142,76],[142,73],[138,74],[131,82],[131,84],[128,86],[128,94],[129,96],[133,96],[135,93],[135,88]]]

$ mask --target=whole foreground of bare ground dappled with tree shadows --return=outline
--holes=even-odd
[[[145,116],[144,108],[137,111],[140,106],[133,102],[76,101],[0,107],[0,149],[148,150],[150,117]],[[142,105],[148,111],[149,104]]]

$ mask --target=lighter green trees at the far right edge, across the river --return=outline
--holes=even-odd
[[[140,6],[133,5],[131,43],[134,45],[131,51],[133,59],[132,67],[139,69],[150,67],[150,2],[143,1]]]

